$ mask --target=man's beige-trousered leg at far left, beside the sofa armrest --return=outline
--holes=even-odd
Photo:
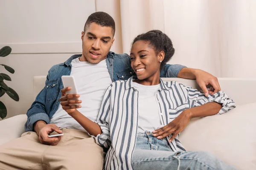
[[[0,170],[42,170],[47,165],[42,154],[48,145],[41,144],[35,132],[26,132],[22,137],[0,145]]]

